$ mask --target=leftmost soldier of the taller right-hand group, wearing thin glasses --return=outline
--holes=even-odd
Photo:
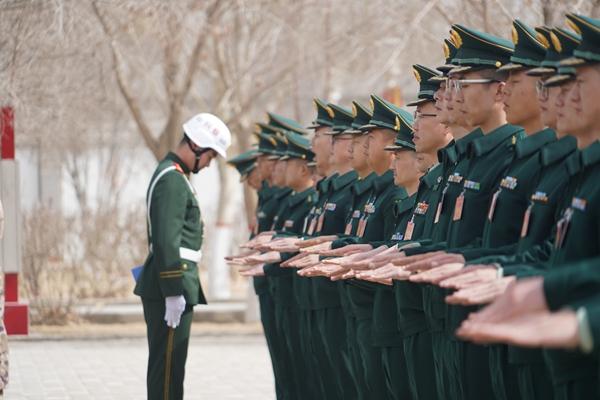
[[[411,209],[410,220],[400,224],[392,236],[389,246],[403,245],[410,241],[427,237],[433,225],[436,199],[442,180],[442,166],[437,163],[438,150],[447,146],[452,139],[449,129],[438,117],[442,104],[435,105],[434,95],[443,101],[440,92],[439,73],[422,65],[413,66],[415,77],[420,83],[418,100],[409,105],[417,106],[414,121],[414,142],[421,168],[426,175],[421,179],[415,198],[415,206]],[[438,101],[439,103],[439,101]],[[393,258],[393,257],[392,257]],[[377,279],[383,276],[390,281],[393,267],[385,265],[391,258],[376,256],[371,259],[373,266],[380,268],[365,272],[365,276]],[[430,379],[435,375],[432,353],[431,334],[423,308],[421,287],[406,281],[394,281],[395,300],[398,313],[398,330],[402,334],[410,389],[413,398],[435,399],[438,390]]]

